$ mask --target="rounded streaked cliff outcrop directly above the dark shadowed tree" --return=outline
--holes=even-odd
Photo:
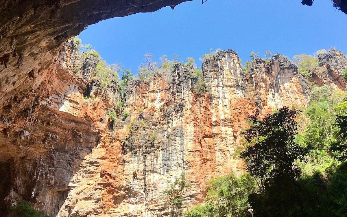
[[[253,59],[249,82],[260,110],[266,114],[286,105],[306,106],[311,95],[310,87],[297,69],[280,54],[268,60]]]

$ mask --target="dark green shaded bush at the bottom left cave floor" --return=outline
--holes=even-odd
[[[19,201],[17,206],[11,208],[10,216],[13,217],[49,217],[44,211],[38,211],[32,208],[30,202]]]

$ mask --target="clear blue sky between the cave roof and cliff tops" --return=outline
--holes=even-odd
[[[198,60],[210,49],[233,49],[245,62],[251,51],[263,57],[265,50],[313,54],[331,46],[347,51],[347,16],[332,7],[330,0],[200,0],[184,2],[171,10],[103,20],[90,25],[78,37],[90,43],[102,58],[121,62],[134,74],[145,53],[156,61],[174,53],[180,61]]]

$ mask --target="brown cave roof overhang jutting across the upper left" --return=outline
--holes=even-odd
[[[57,73],[66,75],[59,72],[60,66],[59,63],[56,64],[56,60],[58,51],[69,37],[79,34],[88,24],[100,20],[152,12],[165,6],[173,7],[183,1],[2,1],[1,134],[8,137],[13,129],[19,128],[14,123],[24,123],[28,113],[40,105],[43,99],[65,91],[67,86],[59,83],[61,80],[64,82],[65,78],[57,79]],[[6,151],[1,151],[0,160],[6,160],[6,155]]]

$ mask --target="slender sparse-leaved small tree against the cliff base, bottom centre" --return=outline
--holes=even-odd
[[[182,215],[184,196],[190,186],[191,184],[186,180],[185,174],[181,173],[180,177],[176,178],[175,182],[170,185],[170,188],[164,191],[171,217]]]

